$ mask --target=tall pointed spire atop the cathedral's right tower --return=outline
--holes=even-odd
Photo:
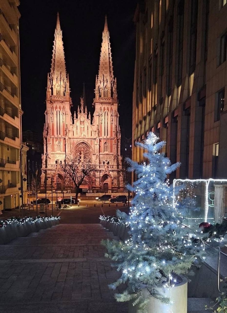
[[[105,24],[102,32],[99,74],[96,80],[96,100],[98,100],[99,97],[115,98],[116,100],[116,81],[113,74],[107,16],[105,16]]]

